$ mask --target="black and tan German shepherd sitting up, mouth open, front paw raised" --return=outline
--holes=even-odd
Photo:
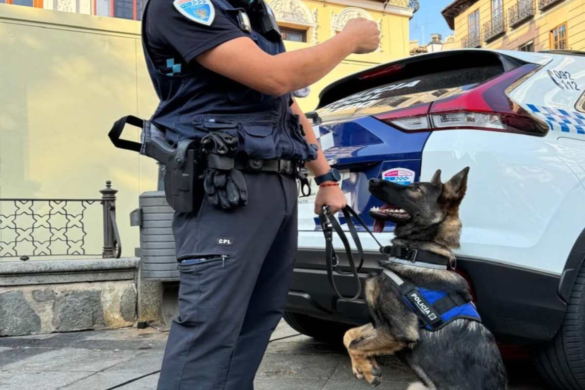
[[[431,182],[408,186],[372,179],[371,194],[384,203],[370,210],[381,231],[395,222],[393,244],[432,251],[454,261],[459,248],[459,205],[467,189],[469,167],[441,182],[441,170]],[[459,292],[470,298],[469,285],[453,271],[391,261],[381,262],[417,287]],[[401,302],[396,285],[383,274],[366,280],[366,300],[372,322],[348,330],[343,337],[352,360],[353,374],[370,385],[380,384],[381,370],[374,357],[396,354],[420,382],[407,390],[505,390],[507,375],[494,336],[480,322],[455,319],[431,332],[419,325],[417,315]]]

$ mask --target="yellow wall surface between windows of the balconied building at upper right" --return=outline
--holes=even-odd
[[[550,30],[566,22],[567,49],[585,50],[585,0],[565,0],[544,12],[539,11],[538,0],[536,0],[536,16],[515,28],[511,28],[508,25],[508,9],[516,2],[517,0],[503,1],[507,22],[504,36],[489,43],[483,42],[481,47],[517,50],[522,44],[534,40],[535,51],[552,49],[549,44]],[[469,14],[478,8],[483,39],[483,25],[491,20],[491,0],[480,0],[455,17],[455,43],[457,47],[460,47],[461,40],[468,34]]]

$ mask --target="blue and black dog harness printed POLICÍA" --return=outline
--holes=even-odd
[[[417,287],[387,268],[382,273],[396,285],[402,302],[417,315],[426,330],[435,332],[458,318],[481,322],[473,302],[457,292]]]

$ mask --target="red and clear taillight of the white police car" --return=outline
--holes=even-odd
[[[508,96],[539,68],[522,65],[461,94],[375,117],[405,132],[477,129],[541,136],[548,126]]]

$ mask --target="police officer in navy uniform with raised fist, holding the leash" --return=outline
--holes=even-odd
[[[292,277],[299,164],[321,186],[315,212],[346,203],[291,92],[377,49],[380,32],[352,19],[285,53],[264,0],[150,0],[142,28],[160,98],[152,122],[170,144],[201,141],[207,158],[201,205],[174,215],[179,315],[159,390],[252,390]]]

